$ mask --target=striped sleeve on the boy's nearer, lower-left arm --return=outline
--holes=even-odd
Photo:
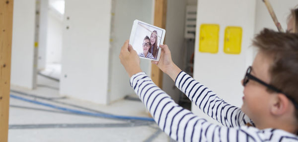
[[[255,142],[256,128],[228,128],[211,124],[176,104],[143,72],[130,79],[159,128],[178,142]]]

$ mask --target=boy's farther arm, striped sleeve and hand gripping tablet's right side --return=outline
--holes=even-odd
[[[171,52],[167,45],[160,45],[160,47],[159,61],[151,62],[169,75],[175,81],[176,87],[187,95],[205,114],[228,127],[244,125],[248,122],[252,123],[240,108],[226,103],[203,84],[182,72],[172,61]]]

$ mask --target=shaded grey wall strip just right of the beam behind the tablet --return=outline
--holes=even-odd
[[[194,0],[193,0],[194,1]],[[181,60],[184,47],[184,23],[185,23],[185,0],[168,0],[166,12],[166,36],[165,44],[169,47],[173,62],[182,69]],[[181,92],[175,87],[175,82],[163,73],[162,90],[176,102]]]

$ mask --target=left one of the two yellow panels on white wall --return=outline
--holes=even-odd
[[[200,52],[217,53],[219,50],[219,32],[218,24],[202,24],[200,28]]]

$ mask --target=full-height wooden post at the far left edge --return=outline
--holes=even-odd
[[[0,0],[0,142],[7,142],[13,0]]]

